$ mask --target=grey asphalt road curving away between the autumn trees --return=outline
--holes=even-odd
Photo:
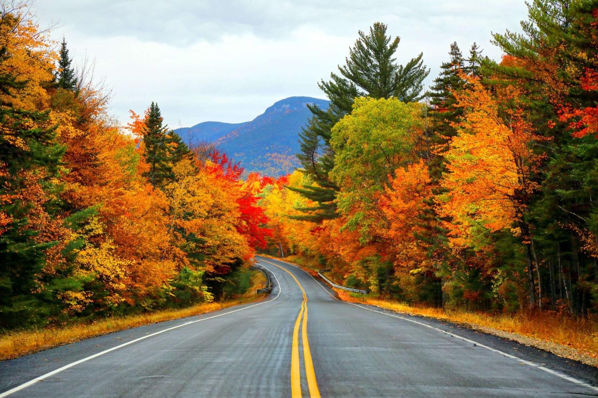
[[[0,397],[598,395],[594,368],[340,302],[304,271],[258,261],[275,276],[266,300],[2,362]]]

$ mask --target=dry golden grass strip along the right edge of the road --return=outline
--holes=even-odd
[[[574,319],[548,311],[517,314],[487,314],[466,311],[445,311],[442,308],[413,307],[401,302],[359,296],[344,290],[337,291],[340,299],[377,305],[398,313],[431,317],[466,324],[474,329],[501,335],[524,344],[534,345],[590,365],[598,365],[598,322],[595,318]],[[504,332],[504,333],[501,333]],[[519,339],[525,336],[529,339]],[[548,344],[543,344],[547,342]],[[561,346],[561,347],[558,347]],[[570,349],[567,350],[566,348]],[[557,352],[555,352],[557,351]],[[589,358],[583,358],[589,357]]]

